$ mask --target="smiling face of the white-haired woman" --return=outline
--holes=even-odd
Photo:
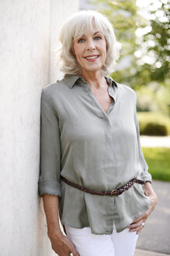
[[[106,39],[96,26],[73,42],[73,53],[82,68],[82,74],[102,71],[106,61]]]

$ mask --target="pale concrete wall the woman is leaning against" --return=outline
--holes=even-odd
[[[0,254],[52,256],[42,199],[40,94],[61,73],[57,30],[78,0],[0,0]]]

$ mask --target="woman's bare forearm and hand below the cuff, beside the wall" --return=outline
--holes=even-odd
[[[43,194],[43,208],[47,219],[47,234],[50,238],[52,249],[58,256],[80,256],[75,250],[71,240],[61,231],[58,217],[58,197]]]

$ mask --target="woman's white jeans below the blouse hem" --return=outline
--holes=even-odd
[[[116,233],[115,226],[110,235],[93,234],[90,227],[75,229],[65,225],[65,230],[80,256],[133,256],[138,238],[129,229]]]

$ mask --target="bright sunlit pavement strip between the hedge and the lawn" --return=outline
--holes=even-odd
[[[170,148],[170,136],[141,136],[141,146],[144,148]]]

